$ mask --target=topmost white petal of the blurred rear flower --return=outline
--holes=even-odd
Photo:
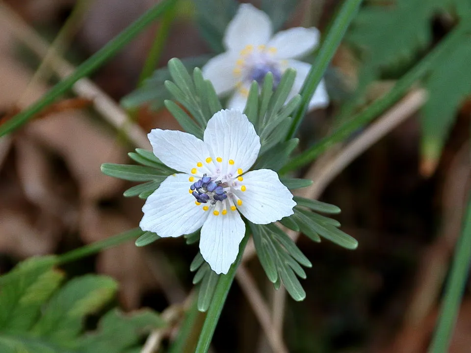
[[[266,44],[271,37],[272,27],[266,13],[251,4],[241,4],[226,28],[224,45],[230,50],[240,51],[247,45],[256,48]]]

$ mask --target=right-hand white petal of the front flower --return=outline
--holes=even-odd
[[[242,204],[237,209],[250,222],[268,224],[279,221],[293,214],[293,195],[282,184],[276,172],[269,169],[259,169],[248,172],[242,182],[246,191],[236,190],[235,194]]]

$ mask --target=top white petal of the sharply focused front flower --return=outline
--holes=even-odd
[[[220,110],[209,119],[204,141],[212,150],[213,160],[222,158],[223,174],[244,172],[255,163],[260,151],[260,137],[247,116],[239,110]],[[235,163],[230,165],[229,161]]]

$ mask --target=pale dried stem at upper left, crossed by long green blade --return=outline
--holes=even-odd
[[[48,54],[49,43],[3,2],[0,2],[0,18],[3,23],[10,26],[13,35],[39,57],[44,58]],[[55,53],[50,54],[49,63],[60,78],[65,78],[75,71],[72,64]],[[78,80],[72,90],[79,97],[93,101],[95,110],[109,124],[123,131],[136,147],[149,149],[149,141],[141,127],[131,122],[127,113],[91,80],[88,78]]]

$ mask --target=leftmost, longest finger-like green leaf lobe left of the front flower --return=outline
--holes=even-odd
[[[104,163],[101,166],[103,174],[130,181],[163,181],[167,175],[151,167],[142,167],[127,164]]]

